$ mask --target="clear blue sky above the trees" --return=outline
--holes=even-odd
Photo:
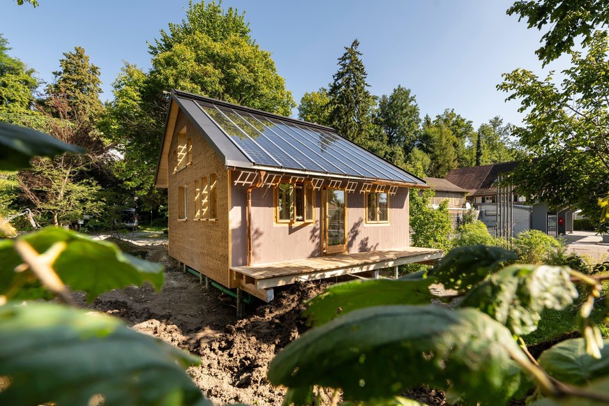
[[[84,47],[100,67],[102,100],[123,61],[147,70],[146,41],[185,17],[188,0],[39,0],[40,6],[0,2],[0,33],[9,54],[52,80],[63,52]],[[504,0],[224,0],[246,12],[252,36],[272,52],[278,73],[299,103],[303,93],[327,86],[337,59],[360,42],[371,93],[401,84],[421,110],[435,116],[453,108],[474,128],[495,115],[518,124],[519,103],[495,90],[502,73],[527,68],[541,74],[534,50],[541,33],[505,10]],[[562,70],[566,58],[550,65]],[[296,114],[296,110],[294,110]]]

